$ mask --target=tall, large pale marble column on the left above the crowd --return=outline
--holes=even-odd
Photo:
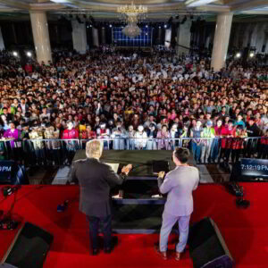
[[[46,12],[31,11],[29,13],[38,63],[52,61],[51,47],[46,20]]]

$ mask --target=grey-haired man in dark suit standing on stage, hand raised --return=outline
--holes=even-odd
[[[80,212],[87,215],[93,255],[97,255],[99,251],[97,234],[100,222],[103,225],[105,253],[111,253],[110,189],[115,185],[122,184],[132,168],[131,164],[124,166],[121,169],[121,174],[117,175],[109,165],[99,162],[102,152],[102,141],[88,141],[87,159],[76,161],[71,169],[71,182],[79,182],[80,184]]]

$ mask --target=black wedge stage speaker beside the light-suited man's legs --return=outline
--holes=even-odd
[[[231,268],[234,265],[221,232],[211,218],[190,227],[188,246],[194,268]]]

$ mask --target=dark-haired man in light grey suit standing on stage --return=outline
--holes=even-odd
[[[186,247],[188,240],[188,224],[193,212],[192,191],[199,182],[199,172],[196,167],[188,165],[189,151],[187,148],[178,147],[174,150],[172,159],[176,168],[158,174],[158,187],[162,194],[167,194],[163,210],[163,222],[160,231],[160,243],[157,248],[163,259],[167,259],[167,243],[173,225],[179,223],[180,239],[176,245],[176,260],[180,260],[180,253]],[[164,180],[163,180],[164,178]]]

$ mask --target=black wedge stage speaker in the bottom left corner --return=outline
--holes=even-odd
[[[2,263],[20,268],[42,268],[52,241],[52,234],[25,222],[4,255]]]

